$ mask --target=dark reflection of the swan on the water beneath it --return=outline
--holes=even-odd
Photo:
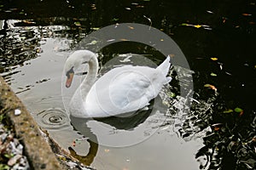
[[[142,124],[143,122],[148,119],[148,116],[152,115],[153,105],[150,105],[150,109],[147,111],[137,111],[137,113],[133,113],[130,116],[125,117],[107,117],[107,118],[98,118],[95,120],[91,120],[90,118],[81,118],[81,117],[75,117],[70,116],[71,124],[73,125],[74,129],[78,131],[78,133],[82,134],[84,136],[84,139],[90,144],[89,152],[86,156],[80,156],[77,154],[75,150],[73,150],[72,147],[69,147],[68,150],[70,150],[70,153],[72,156],[77,158],[79,161],[84,163],[84,165],[90,166],[90,164],[93,162],[94,158],[96,157],[96,153],[99,147],[99,144],[105,144],[105,143],[99,143],[98,138],[102,139],[102,132],[101,130],[95,129],[95,127],[91,127],[91,123],[98,124],[99,122],[102,122],[104,124],[108,124],[111,127],[114,127],[115,133],[119,133],[123,130],[129,131],[130,133],[137,133],[137,127]],[[102,125],[105,127],[105,125]],[[147,130],[147,129],[144,129]],[[99,133],[100,132],[100,133]],[[125,133],[125,132],[121,132]],[[121,139],[115,137],[111,133],[108,134],[116,140],[118,143],[121,141]],[[126,135],[129,135],[127,133]],[[84,141],[83,139],[83,141]],[[129,139],[129,138],[126,138]],[[77,139],[78,140],[78,139]],[[75,141],[77,141],[75,140]],[[81,139],[80,139],[81,140]],[[108,140],[103,137],[103,140]],[[130,144],[129,142],[126,144]],[[110,144],[108,144],[110,145]],[[111,145],[112,147],[118,147],[118,145]],[[129,146],[129,145],[126,145]]]

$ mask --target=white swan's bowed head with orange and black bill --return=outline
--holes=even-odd
[[[69,88],[73,81],[75,71],[79,69],[80,65],[89,63],[90,59],[96,58],[96,54],[89,50],[78,50],[73,52],[66,61],[64,71],[67,77],[66,87]]]

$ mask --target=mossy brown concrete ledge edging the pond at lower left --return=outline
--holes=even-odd
[[[15,115],[15,110],[20,114]],[[41,135],[37,123],[4,82],[3,77],[0,77],[0,114],[9,116],[16,138],[24,144],[24,151],[32,169],[63,169]]]

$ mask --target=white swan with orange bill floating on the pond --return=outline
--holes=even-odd
[[[159,94],[162,86],[172,80],[171,77],[166,77],[171,65],[168,56],[155,69],[125,65],[108,71],[96,81],[96,54],[89,50],[78,50],[66,61],[64,71],[67,76],[67,88],[71,86],[74,71],[84,63],[89,65],[89,69],[71,99],[72,116],[107,117],[137,111],[148,105],[148,102]]]

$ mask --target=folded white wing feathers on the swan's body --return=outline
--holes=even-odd
[[[100,117],[143,108],[159,93],[155,88],[159,74],[160,71],[154,68],[131,65],[108,71],[90,89],[85,103],[86,112]]]

